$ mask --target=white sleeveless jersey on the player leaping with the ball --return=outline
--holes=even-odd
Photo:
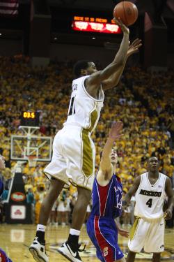
[[[76,124],[92,132],[100,118],[103,106],[104,92],[102,87],[98,92],[98,99],[94,99],[84,86],[89,75],[77,78],[72,82],[72,94],[68,110],[68,119],[65,124]]]

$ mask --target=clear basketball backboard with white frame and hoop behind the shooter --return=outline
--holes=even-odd
[[[18,167],[26,161],[31,168],[35,167],[38,161],[51,160],[52,137],[38,136],[39,129],[38,126],[19,126],[20,134],[11,136],[10,159],[17,161]]]

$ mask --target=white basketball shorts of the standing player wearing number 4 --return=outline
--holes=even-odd
[[[130,231],[128,242],[129,250],[132,252],[144,251],[147,253],[161,253],[164,251],[164,217],[154,221],[146,221],[136,218]]]

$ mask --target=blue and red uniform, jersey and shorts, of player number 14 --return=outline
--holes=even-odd
[[[122,184],[113,175],[105,187],[93,184],[93,208],[87,222],[87,233],[96,247],[97,258],[102,262],[122,259],[124,254],[118,246],[118,230],[114,221],[120,217],[122,208]]]

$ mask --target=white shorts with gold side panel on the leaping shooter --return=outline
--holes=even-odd
[[[92,189],[95,173],[95,145],[90,133],[80,126],[65,125],[56,133],[52,161],[44,170],[49,179]]]

